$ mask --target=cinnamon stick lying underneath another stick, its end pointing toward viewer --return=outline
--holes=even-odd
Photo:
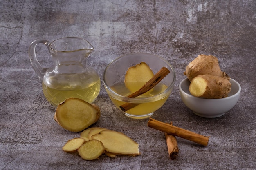
[[[172,122],[171,122],[171,125],[172,125]],[[167,133],[164,133],[164,135],[166,139],[169,156],[172,160],[174,160],[176,159],[179,152],[176,137]]]

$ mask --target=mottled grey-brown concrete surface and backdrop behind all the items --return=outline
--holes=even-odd
[[[43,96],[28,59],[37,38],[76,36],[95,48],[88,64],[103,75],[106,65],[127,53],[160,55],[175,68],[175,88],[153,115],[159,121],[209,135],[199,146],[177,138],[170,160],[164,134],[117,110],[101,86],[94,102],[101,119],[93,126],[124,132],[139,143],[138,157],[85,161],[61,147],[80,133],[53,119],[56,108]],[[38,59],[50,66],[44,45]],[[1,0],[0,2],[0,169],[253,170],[256,167],[256,2],[255,0]],[[219,118],[198,117],[178,91],[186,65],[198,54],[216,55],[222,70],[242,87],[236,106]]]

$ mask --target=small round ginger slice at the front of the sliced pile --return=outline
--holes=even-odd
[[[85,143],[78,149],[79,155],[88,161],[99,158],[104,151],[105,147],[103,146],[102,142],[98,140],[85,141]]]

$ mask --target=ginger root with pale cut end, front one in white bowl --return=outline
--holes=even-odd
[[[219,99],[231,91],[229,80],[214,75],[198,75],[189,85],[189,92],[195,97]]]

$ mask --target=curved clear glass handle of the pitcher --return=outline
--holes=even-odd
[[[45,75],[45,72],[49,69],[49,68],[45,68],[43,67],[37,60],[36,58],[36,46],[37,44],[45,44],[45,46],[47,46],[47,49],[50,51],[50,47],[49,44],[50,42],[48,40],[45,39],[37,39],[34,40],[30,46],[29,46],[29,60],[31,62],[31,65],[34,69],[34,71],[36,72],[36,74],[38,75],[40,81],[43,80],[43,76]]]

